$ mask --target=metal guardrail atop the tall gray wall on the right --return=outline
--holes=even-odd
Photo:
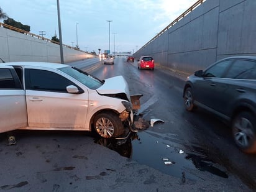
[[[157,35],[155,35],[155,37],[153,37],[149,42],[145,43],[145,45],[143,45],[140,49],[146,47],[147,45],[149,45],[150,43],[153,42],[153,40],[157,39],[160,35],[162,35],[165,31],[167,31],[168,29],[170,29],[170,27],[172,27],[174,24],[176,24],[178,21],[180,21],[181,19],[183,19],[183,17],[185,17],[187,14],[189,14],[191,11],[193,11],[196,7],[198,7],[199,5],[201,5],[204,1],[206,0],[198,0],[197,2],[195,2],[193,4],[193,6],[191,6],[190,8],[188,8],[185,12],[183,12],[183,14],[181,14],[179,17],[177,17],[175,19],[175,21],[171,22],[167,27],[165,27],[165,29],[161,30]]]

